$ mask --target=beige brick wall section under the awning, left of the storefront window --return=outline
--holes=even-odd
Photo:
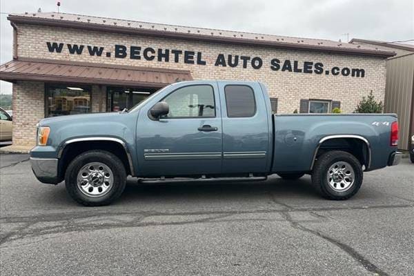
[[[34,146],[36,124],[45,115],[44,83],[17,81],[13,83],[13,144]]]

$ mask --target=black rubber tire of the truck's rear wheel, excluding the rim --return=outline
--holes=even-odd
[[[354,182],[348,190],[337,191],[328,184],[328,170],[333,164],[343,161],[351,165],[354,171]],[[344,200],[353,197],[362,185],[363,179],[362,166],[353,155],[348,152],[333,150],[328,151],[318,157],[313,166],[312,183],[317,191],[326,199]]]

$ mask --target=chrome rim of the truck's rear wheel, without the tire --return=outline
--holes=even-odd
[[[348,162],[337,161],[329,167],[326,180],[333,190],[344,192],[353,186],[355,171]]]

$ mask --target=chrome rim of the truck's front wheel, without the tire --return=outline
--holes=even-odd
[[[101,162],[91,162],[83,166],[77,175],[77,186],[88,197],[102,197],[114,185],[112,170]]]

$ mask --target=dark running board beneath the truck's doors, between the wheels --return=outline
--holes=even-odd
[[[264,181],[267,177],[199,177],[199,178],[140,178],[139,184],[168,184],[168,183],[188,183],[188,182],[223,182],[223,181]]]

